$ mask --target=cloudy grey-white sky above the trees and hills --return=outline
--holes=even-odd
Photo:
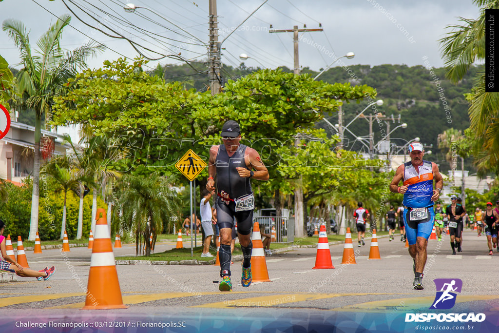
[[[263,1],[218,0],[220,39]],[[3,0],[0,20],[22,21],[30,30],[30,42],[35,47],[37,39],[56,16],[71,14],[71,27],[64,31],[62,47],[74,49],[91,38],[108,47],[88,62],[90,67],[100,67],[106,59],[133,58],[138,54],[125,39],[114,39],[95,27],[139,43],[149,57],[181,52],[186,59],[206,59],[208,0],[135,1],[136,6],[144,7],[135,12],[125,12],[125,2],[119,0],[64,2],[90,26],[74,17],[62,0]],[[351,51],[355,58],[345,59],[345,63],[413,66],[423,64],[422,57],[428,56],[429,63],[439,67],[443,61],[437,40],[449,31],[445,27],[458,23],[457,16],[475,18],[478,15],[472,0],[268,0],[224,41],[223,62],[237,66],[242,61],[239,55],[246,53],[250,56],[245,61],[248,66],[292,68],[292,33],[269,33],[269,24],[276,29],[289,29],[293,25],[301,28],[304,24],[307,28],[318,28],[321,23],[323,32],[300,33],[300,66],[319,70],[335,56]],[[19,68],[18,50],[4,31],[0,31],[0,54]],[[161,64],[179,62],[169,58],[158,61]],[[150,66],[156,63],[153,61]]]

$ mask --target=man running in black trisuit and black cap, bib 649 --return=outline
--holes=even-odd
[[[241,284],[243,287],[249,287],[251,284],[253,244],[250,233],[254,196],[250,178],[268,180],[268,171],[256,150],[240,143],[241,130],[236,121],[227,121],[222,128],[221,136],[224,144],[210,148],[206,188],[210,192],[217,191],[218,198],[215,205],[221,237],[220,277],[223,278],[219,290],[228,292],[232,291],[231,242],[234,218],[238,223],[239,243],[244,257]],[[215,177],[217,188],[215,188]]]

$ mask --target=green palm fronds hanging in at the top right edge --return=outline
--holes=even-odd
[[[442,55],[445,59],[447,76],[454,82],[464,75],[476,62],[483,62],[485,52],[485,9],[498,9],[499,0],[474,0],[481,7],[477,19],[460,17],[462,24],[450,25],[453,31],[440,39]],[[476,158],[478,167],[484,170],[496,169],[499,173],[499,93],[486,92],[485,68],[482,66],[476,75],[471,93],[469,115],[471,127],[476,135],[477,152],[485,152]]]

